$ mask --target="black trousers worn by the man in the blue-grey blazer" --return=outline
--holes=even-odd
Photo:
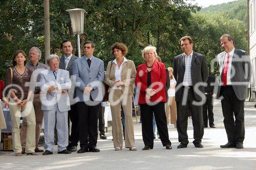
[[[93,106],[85,102],[77,103],[80,148],[96,147],[97,144],[100,103],[98,101],[94,103]]]

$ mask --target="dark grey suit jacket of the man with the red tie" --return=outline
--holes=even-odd
[[[218,54],[217,61],[220,71],[220,83],[222,84],[222,71],[224,67],[225,52]],[[231,62],[231,84],[237,98],[242,101],[247,98],[247,85],[251,76],[250,58],[245,51],[234,49]],[[217,98],[220,97],[220,86],[218,88]]]

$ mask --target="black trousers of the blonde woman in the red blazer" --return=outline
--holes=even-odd
[[[156,118],[157,130],[163,146],[172,144],[169,140],[164,103],[160,102],[154,106],[140,104],[142,138],[145,146],[154,147],[153,134],[153,112]]]

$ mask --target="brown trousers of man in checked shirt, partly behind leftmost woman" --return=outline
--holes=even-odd
[[[35,147],[38,147],[38,141],[41,133],[42,119],[44,118],[44,112],[41,110],[40,94],[34,94],[33,106],[35,110]],[[22,148],[26,148],[27,138],[27,119],[23,119],[22,129],[20,129],[20,141],[22,142]]]

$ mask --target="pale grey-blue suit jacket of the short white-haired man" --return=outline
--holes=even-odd
[[[69,111],[70,101],[68,93],[59,93],[53,90],[47,93],[47,89],[51,85],[56,85],[57,90],[69,90],[71,88],[71,80],[69,78],[69,71],[58,69],[57,78],[55,80],[51,69],[46,69],[40,72],[40,94],[42,107],[41,110],[52,110],[54,105],[57,104],[59,111]]]

